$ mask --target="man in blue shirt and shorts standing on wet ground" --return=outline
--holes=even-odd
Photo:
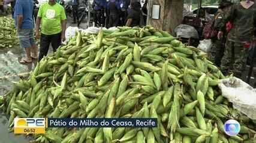
[[[14,19],[17,36],[22,48],[25,48],[26,57],[20,63],[31,63],[32,58],[37,58],[37,46],[34,41],[34,22],[32,0],[17,0],[14,8]]]

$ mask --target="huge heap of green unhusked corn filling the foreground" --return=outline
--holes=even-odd
[[[254,142],[255,123],[218,89],[225,78],[192,46],[146,26],[77,33],[0,99],[14,117],[152,117],[158,128],[49,128],[38,142]],[[239,116],[237,136],[224,133]]]

